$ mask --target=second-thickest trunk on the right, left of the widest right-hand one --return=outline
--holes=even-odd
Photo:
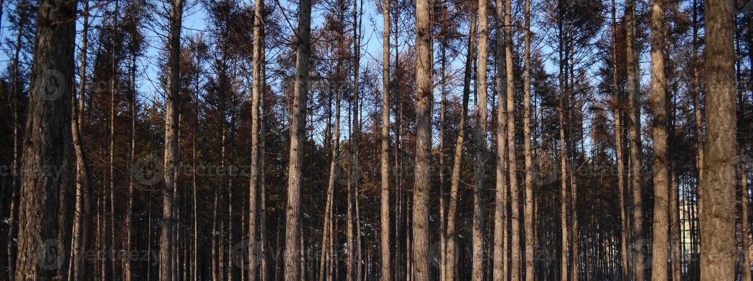
[[[654,99],[654,243],[651,280],[668,281],[669,179],[666,145],[664,3],[651,0],[651,95]]]

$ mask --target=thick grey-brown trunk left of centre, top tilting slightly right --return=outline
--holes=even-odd
[[[290,159],[288,162],[288,206],[285,223],[285,280],[300,279],[300,186],[303,184],[303,141],[306,123],[306,95],[309,91],[309,56],[311,52],[311,0],[298,6],[295,92],[290,124]]]

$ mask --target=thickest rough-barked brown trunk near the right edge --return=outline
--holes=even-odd
[[[701,280],[735,278],[735,165],[736,97],[733,49],[733,3],[706,0],[706,144],[703,178],[698,186],[700,212]],[[706,196],[711,195],[711,196]]]

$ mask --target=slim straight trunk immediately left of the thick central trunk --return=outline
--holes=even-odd
[[[392,273],[390,272],[392,271],[392,258],[390,258],[392,254],[390,253],[389,246],[389,0],[383,0],[382,15],[384,17],[384,24],[382,35],[382,147],[380,147],[380,176],[382,181],[382,190],[380,192],[380,196],[382,197],[380,210],[380,220],[382,223],[380,228],[382,271],[380,279],[382,281],[392,281]],[[338,110],[340,110],[339,107]],[[441,235],[445,236],[445,234]],[[444,266],[441,267],[444,268]]]

